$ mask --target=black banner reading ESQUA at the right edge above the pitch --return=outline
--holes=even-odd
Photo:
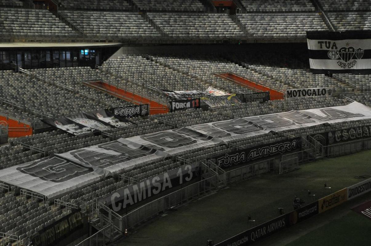
[[[338,142],[354,141],[361,138],[371,137],[371,125],[365,125],[361,127],[352,127],[347,129],[321,132],[318,134],[309,135],[309,140],[316,140],[320,144],[326,146],[331,144],[337,144]]]

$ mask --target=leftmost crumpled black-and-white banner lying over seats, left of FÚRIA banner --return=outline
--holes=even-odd
[[[65,117],[58,119],[41,119],[41,121],[75,136],[99,133],[99,131],[94,128],[86,127],[85,125],[79,124]]]

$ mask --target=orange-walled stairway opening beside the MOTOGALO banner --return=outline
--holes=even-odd
[[[239,76],[234,73],[214,73],[214,75],[220,78],[232,81],[241,86],[247,87],[251,89],[252,91],[257,91],[257,92],[269,91],[270,100],[283,99],[283,96],[285,95],[285,93],[283,93],[282,91],[278,91],[276,89],[270,88],[269,86],[261,85],[259,83],[256,83],[255,81],[251,81],[250,79],[243,78],[242,76]]]

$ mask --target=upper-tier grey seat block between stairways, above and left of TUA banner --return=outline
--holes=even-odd
[[[328,31],[318,13],[237,14],[250,33],[257,37],[306,37],[306,31]]]

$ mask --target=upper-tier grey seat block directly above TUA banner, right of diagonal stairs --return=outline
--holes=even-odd
[[[328,13],[327,16],[338,32],[371,30],[371,12]]]

